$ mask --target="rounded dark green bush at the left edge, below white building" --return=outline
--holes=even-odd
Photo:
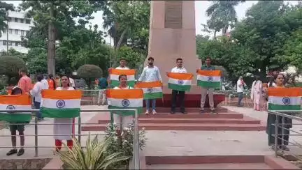
[[[17,77],[19,70],[26,68],[25,62],[17,56],[0,56],[0,75]]]

